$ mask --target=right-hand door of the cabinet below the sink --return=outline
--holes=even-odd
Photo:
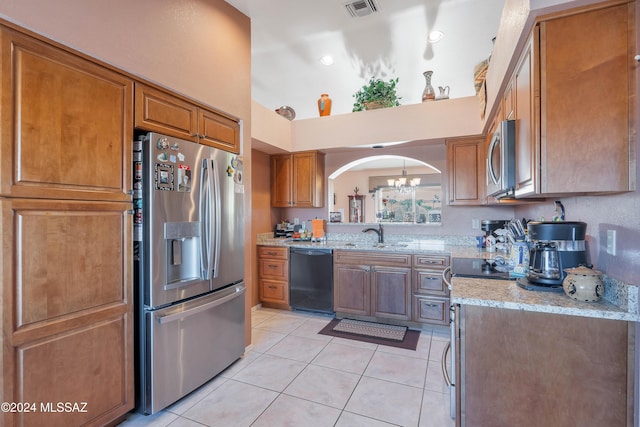
[[[371,276],[371,315],[409,320],[411,269],[375,266]]]

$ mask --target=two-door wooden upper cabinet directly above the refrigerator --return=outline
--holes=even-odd
[[[240,124],[176,94],[143,83],[135,86],[135,127],[240,152]]]

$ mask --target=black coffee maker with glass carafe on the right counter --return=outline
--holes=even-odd
[[[587,224],[579,221],[529,222],[533,247],[527,280],[538,286],[562,286],[565,268],[587,265],[586,231]]]

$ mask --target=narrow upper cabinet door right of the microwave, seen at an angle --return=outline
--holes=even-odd
[[[538,27],[525,46],[513,78],[516,114],[516,196],[536,194],[540,188],[539,105],[537,63]]]

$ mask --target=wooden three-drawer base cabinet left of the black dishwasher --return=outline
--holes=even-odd
[[[289,248],[258,246],[258,282],[263,307],[291,309]]]

